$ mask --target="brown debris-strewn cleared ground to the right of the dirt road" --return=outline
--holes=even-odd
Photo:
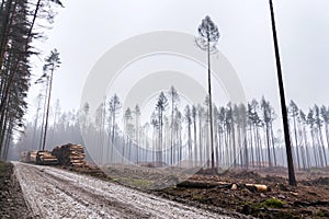
[[[219,174],[200,171],[188,178],[186,170],[183,176],[170,175],[172,170],[136,166],[106,166],[103,170],[112,181],[120,184],[208,210],[216,211],[218,207],[257,218],[329,218],[329,170],[297,172],[296,187],[288,186],[287,171],[283,168],[227,170]],[[185,183],[178,186],[168,184],[167,187],[161,185],[158,188],[155,186],[159,182],[172,184],[172,181]],[[218,186],[208,186],[218,182]],[[263,184],[268,189],[258,192],[246,184]]]

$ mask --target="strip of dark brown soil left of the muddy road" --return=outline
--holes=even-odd
[[[22,189],[13,174],[13,165],[0,161],[0,218],[32,218]]]

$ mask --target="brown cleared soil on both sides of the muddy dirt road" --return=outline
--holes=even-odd
[[[288,186],[286,169],[229,170],[218,174],[205,170],[188,178],[182,175],[182,178],[194,183],[200,182],[202,185],[214,185],[214,183],[225,185],[207,188],[174,185],[157,187],[155,181],[170,182],[170,184],[182,182],[181,175],[172,176],[168,174],[169,172],[163,174],[159,169],[150,168],[141,171],[136,166],[106,166],[102,170],[106,174],[100,174],[99,170],[70,169],[73,172],[94,175],[104,181],[234,218],[329,218],[328,169],[297,171],[296,187]],[[21,186],[12,173],[12,164],[0,163],[0,216],[1,218],[31,218]],[[190,174],[189,170],[184,173]],[[262,184],[268,189],[258,192],[246,184]]]

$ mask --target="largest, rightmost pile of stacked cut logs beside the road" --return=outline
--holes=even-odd
[[[80,145],[67,143],[57,146],[54,148],[52,154],[58,159],[60,165],[78,168],[86,165],[83,146]]]

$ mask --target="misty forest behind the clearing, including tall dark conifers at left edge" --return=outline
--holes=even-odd
[[[123,108],[116,94],[107,96],[94,115],[88,103],[81,110],[63,112],[57,101],[47,111],[50,79],[60,62],[56,66],[46,59],[44,72],[39,72],[37,110],[33,119],[24,119],[27,92],[34,85],[31,58],[41,53],[32,42],[45,38],[42,33],[52,27],[56,7],[61,7],[59,0],[1,0],[1,159],[18,160],[21,151],[42,149],[46,123],[45,149],[66,142],[86,143],[90,155],[101,164],[129,161],[160,166],[202,163],[209,166],[214,152],[217,168],[286,166],[283,134],[274,125],[281,118],[264,97],[250,100],[248,104],[213,105],[212,148],[207,107],[212,99],[205,97],[205,103],[197,105],[184,105],[173,87],[159,94],[154,112],[140,112],[138,105]],[[327,166],[329,107],[314,105],[305,111],[292,101],[287,110],[296,169]],[[143,113],[150,114],[147,122],[140,119]],[[81,134],[88,142],[82,140]],[[181,162],[183,160],[188,162]]]

